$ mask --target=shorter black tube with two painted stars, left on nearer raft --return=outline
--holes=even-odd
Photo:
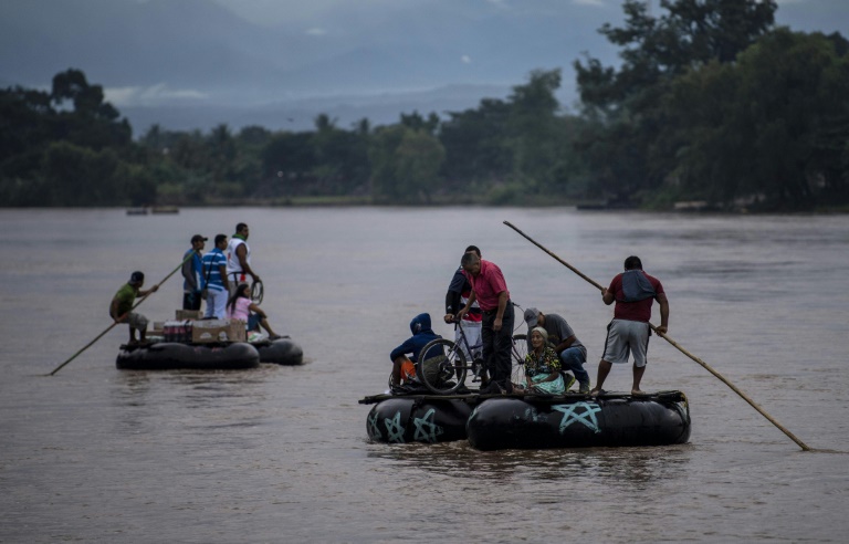
[[[462,399],[392,397],[371,408],[368,438],[376,442],[450,442],[465,439],[472,405]]]

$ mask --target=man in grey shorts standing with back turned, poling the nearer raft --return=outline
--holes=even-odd
[[[610,373],[612,363],[628,363],[633,355],[633,385],[631,395],[644,395],[640,390],[640,380],[646,372],[646,353],[649,349],[651,327],[651,304],[660,305],[660,326],[658,332],[665,333],[669,325],[669,301],[660,280],[642,271],[639,257],[625,260],[625,272],[617,274],[610,286],[601,290],[601,300],[608,306],[616,301],[614,321],[607,326],[605,354],[598,364],[598,379],[591,395],[601,393],[601,385]]]

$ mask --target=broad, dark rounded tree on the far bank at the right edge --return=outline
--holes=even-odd
[[[672,86],[683,188],[717,203],[757,197],[798,209],[846,197],[846,40],[778,29],[737,63],[693,71]]]

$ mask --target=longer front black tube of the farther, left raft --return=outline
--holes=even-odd
[[[125,370],[238,370],[260,366],[260,353],[251,344],[182,344],[160,342],[122,346],[115,366]]]

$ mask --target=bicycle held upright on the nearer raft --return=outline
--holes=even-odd
[[[469,345],[460,321],[455,322],[460,338],[450,341],[437,338],[428,342],[421,348],[416,373],[419,379],[436,395],[451,395],[465,386],[465,379],[471,372],[472,383],[480,383],[486,372],[483,365],[483,344]],[[511,346],[511,380],[524,384],[525,355],[527,354],[527,335],[516,334],[512,337]],[[463,351],[465,347],[465,352]],[[433,355],[433,354],[437,355]],[[467,360],[465,354],[472,355],[472,362]]]

